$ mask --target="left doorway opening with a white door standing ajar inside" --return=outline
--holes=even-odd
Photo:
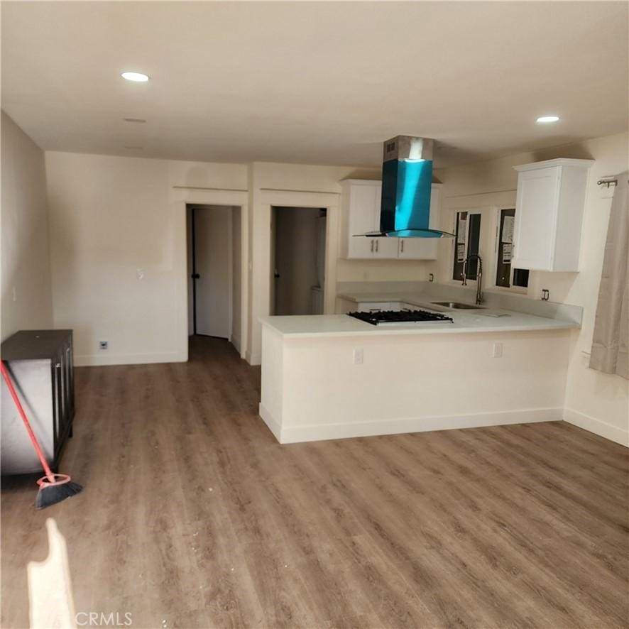
[[[241,327],[240,207],[188,204],[186,212],[188,335],[233,342]]]

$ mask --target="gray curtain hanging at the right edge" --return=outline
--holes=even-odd
[[[590,367],[629,378],[629,172],[614,177]]]

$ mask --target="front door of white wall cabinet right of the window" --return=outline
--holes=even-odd
[[[527,170],[518,175],[513,267],[552,270],[560,168]]]

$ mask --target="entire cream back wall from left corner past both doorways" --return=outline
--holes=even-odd
[[[269,312],[270,221],[263,195],[339,195],[343,178],[380,175],[379,169],[57,152],[46,153],[46,169],[55,326],[75,329],[79,365],[186,359],[185,204],[234,205],[239,195],[247,206],[241,214],[245,320],[239,342],[248,361],[259,363],[258,317]],[[329,255],[335,269],[337,248]],[[360,269],[349,275],[361,278]],[[396,272],[390,266],[386,278],[395,279]],[[108,350],[99,351],[100,340],[109,341]]]

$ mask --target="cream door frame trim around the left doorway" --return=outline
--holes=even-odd
[[[240,207],[241,220],[241,322],[240,347],[236,348],[245,358],[248,339],[248,223],[249,200],[246,190],[177,186],[170,189],[170,207],[173,215],[175,243],[171,268],[175,273],[175,327],[177,328],[177,356],[188,359],[188,268],[187,268],[187,205],[229,205]],[[233,342],[233,341],[232,341]],[[234,344],[235,346],[235,344]]]

